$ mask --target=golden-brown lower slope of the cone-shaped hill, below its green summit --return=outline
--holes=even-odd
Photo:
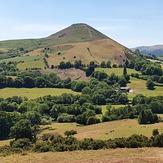
[[[42,52],[43,50],[40,49],[40,51],[36,50],[26,55],[37,56],[42,55]],[[54,45],[49,47],[46,54],[49,56],[47,59],[49,66],[58,65],[62,61],[74,63],[75,60],[82,60],[84,64],[91,61],[101,63],[108,60],[111,60],[112,63],[123,64],[126,59],[134,56],[127,48],[110,39]]]

